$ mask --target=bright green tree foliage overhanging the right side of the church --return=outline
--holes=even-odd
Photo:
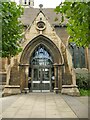
[[[78,46],[90,44],[90,2],[63,2],[56,7],[57,13],[62,13],[62,21],[68,18],[67,32],[70,41]]]

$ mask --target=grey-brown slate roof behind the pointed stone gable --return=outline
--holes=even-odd
[[[31,23],[34,21],[35,17],[39,13],[39,8],[25,8],[24,14],[21,17],[21,21],[24,25],[31,25]],[[54,12],[54,8],[43,8],[42,12],[45,14],[45,16],[48,18],[48,21],[51,25],[59,25],[61,21],[61,14],[56,14]],[[57,19],[57,21],[55,21]],[[66,24],[67,19],[62,24]]]

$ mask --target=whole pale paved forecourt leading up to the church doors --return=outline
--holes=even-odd
[[[2,98],[2,117],[88,118],[88,104],[85,104],[87,100],[88,98],[85,98],[82,102],[79,97],[55,93],[29,93],[5,97]]]

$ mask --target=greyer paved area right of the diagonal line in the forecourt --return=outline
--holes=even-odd
[[[88,118],[88,97],[72,97],[63,95],[62,98],[78,118]]]

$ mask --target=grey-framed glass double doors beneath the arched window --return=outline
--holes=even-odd
[[[34,68],[32,79],[33,92],[50,92],[51,78],[49,68]]]

